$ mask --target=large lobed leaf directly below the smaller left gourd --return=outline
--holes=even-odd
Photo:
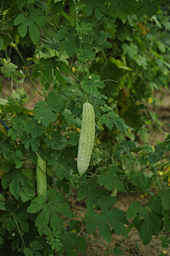
[[[55,230],[59,230],[60,234],[63,235],[63,223],[57,213],[64,215],[67,218],[72,218],[74,215],[72,210],[69,209],[69,204],[65,203],[64,195],[57,192],[56,189],[51,188],[47,190],[47,203],[44,201],[43,196],[35,197],[30,206],[28,206],[28,213],[38,213],[38,217],[35,220],[35,225],[38,226],[38,232],[42,235],[44,228],[49,225]]]

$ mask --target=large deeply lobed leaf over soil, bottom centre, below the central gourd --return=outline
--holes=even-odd
[[[127,230],[123,224],[128,224],[122,210],[111,208],[117,201],[117,198],[111,196],[102,196],[97,201],[97,205],[101,208],[101,213],[95,213],[93,210],[86,212],[86,229],[87,233],[93,233],[97,227],[98,220],[100,221],[98,228],[99,234],[107,242],[111,242],[111,229],[108,223],[117,235],[128,237]],[[108,210],[111,208],[111,210]]]

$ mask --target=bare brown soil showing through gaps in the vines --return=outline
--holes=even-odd
[[[0,100],[6,99],[8,95],[11,95],[11,81],[9,80],[3,80],[3,92],[0,92]],[[40,89],[40,85],[38,83],[36,84],[38,89]],[[23,85],[25,87],[25,90],[28,91],[31,88],[33,88],[32,85],[30,85],[30,82],[26,80],[26,85]],[[16,88],[15,83],[13,83],[13,89]],[[31,97],[33,94],[33,91],[30,90],[28,92],[28,95]],[[164,95],[164,97],[162,97]],[[162,102],[162,105],[160,107],[154,107],[154,112],[157,112],[158,119],[164,122],[164,124],[170,124],[169,119],[169,110],[170,110],[170,93],[166,90],[163,90],[162,92],[157,92],[154,95]],[[36,102],[39,102],[42,100],[42,97],[40,95],[35,95],[34,99],[24,105],[24,107],[29,108],[30,110],[33,110],[34,105]],[[157,144],[159,141],[163,141],[166,137],[167,132],[169,132],[169,127],[162,127],[164,130],[163,134],[160,134],[160,132],[156,132],[156,134],[151,138],[152,144]],[[115,204],[115,208],[119,208],[120,210],[123,210],[126,212],[128,210],[128,207],[130,206],[130,203],[132,201],[141,201],[142,206],[147,205],[149,203],[149,197],[145,197],[142,193],[118,193],[118,202]],[[72,196],[69,198],[69,204],[72,208],[72,210],[82,210],[86,208],[86,201],[77,201],[77,191],[73,191]],[[79,213],[81,214],[81,213]],[[82,213],[83,216],[83,213]],[[77,218],[81,222],[81,218]],[[159,253],[164,252],[166,256],[170,256],[170,248],[163,249],[161,245],[160,238],[157,236],[154,236],[152,238],[152,241],[149,243],[149,245],[142,245],[142,242],[140,241],[140,236],[137,233],[137,230],[135,228],[132,228],[129,235],[132,235],[130,239],[125,240],[123,244],[121,245],[121,249],[125,253],[125,256],[158,256]],[[108,245],[106,240],[101,238],[98,234],[98,230],[96,230],[96,234],[94,235],[87,235],[86,229],[83,227],[81,231],[81,235],[83,235],[85,238],[88,239],[87,248],[86,248],[86,256],[106,256],[106,246],[111,248],[115,247],[115,245],[118,245],[118,243],[122,240],[122,238],[118,235],[113,235],[111,244]],[[170,235],[170,233],[164,233],[162,235]],[[97,242],[94,242],[96,240]],[[105,245],[104,245],[105,244]],[[140,253],[137,254],[137,244],[140,248]],[[79,256],[83,256],[84,254],[79,253]],[[111,255],[113,255],[111,253]],[[85,255],[84,255],[85,256]]]

